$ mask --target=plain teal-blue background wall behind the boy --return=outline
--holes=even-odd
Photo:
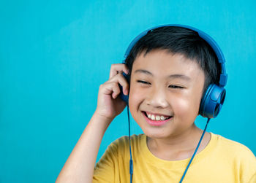
[[[97,107],[99,85],[129,42],[166,23],[212,36],[226,58],[227,97],[208,131],[255,143],[255,1],[1,1],[0,182],[54,182]],[[127,109],[106,131],[128,135]],[[204,128],[206,119],[197,117]],[[132,120],[133,133],[142,133]]]

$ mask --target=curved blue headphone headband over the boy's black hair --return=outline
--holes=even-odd
[[[132,42],[129,44],[129,47],[127,48],[127,50],[124,54],[124,60],[129,55],[129,52],[132,50],[132,47],[138,42],[138,40],[140,38],[145,36],[148,33],[148,31],[154,30],[155,28],[159,28],[159,27],[165,27],[165,26],[176,26],[176,27],[181,27],[181,28],[188,28],[192,31],[197,32],[197,34],[212,47],[215,54],[217,55],[219,63],[221,64],[222,72],[221,72],[220,77],[219,77],[219,86],[224,87],[227,84],[227,73],[226,73],[226,69],[225,69],[225,58],[224,58],[224,55],[222,53],[222,50],[220,50],[217,42],[215,42],[214,39],[211,38],[211,36],[209,36],[208,34],[206,34],[203,31],[200,31],[197,28],[193,28],[191,26],[185,26],[185,25],[181,25],[181,24],[165,24],[165,25],[160,25],[160,26],[154,26],[153,28],[148,28],[146,31],[143,31],[138,36],[136,36],[135,39],[132,40]]]

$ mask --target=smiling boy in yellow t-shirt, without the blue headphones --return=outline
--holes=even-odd
[[[129,81],[121,74],[125,72]],[[100,142],[126,103],[145,134],[131,136],[132,182],[179,182],[202,135],[195,125],[208,85],[221,67],[194,31],[165,26],[149,31],[125,64],[113,64],[99,87],[97,109],[56,182],[129,182],[129,138],[110,144],[94,168]],[[206,132],[184,182],[256,182],[256,158],[244,145]]]

